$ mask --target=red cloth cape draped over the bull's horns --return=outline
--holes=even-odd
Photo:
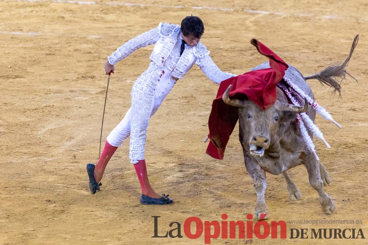
[[[208,120],[210,142],[206,153],[216,159],[223,159],[226,144],[238,121],[237,108],[225,104],[222,100],[227,87],[232,84],[229,91],[230,98],[252,100],[265,110],[275,103],[276,84],[281,81],[289,67],[258,40],[252,39],[251,44],[257,48],[259,53],[269,58],[271,68],[246,72],[221,82]]]

